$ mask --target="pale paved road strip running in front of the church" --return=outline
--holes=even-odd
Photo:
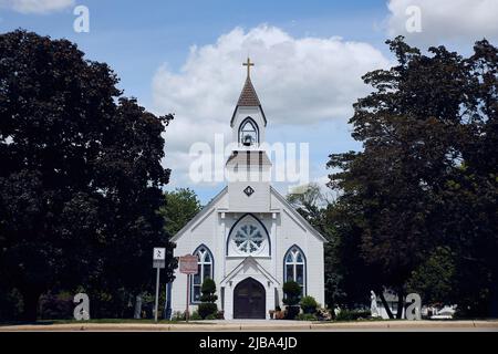
[[[498,332],[497,321],[375,321],[375,322],[307,322],[307,321],[199,321],[196,323],[69,323],[40,325],[7,325],[2,331],[374,331],[374,332],[433,332],[479,331]]]

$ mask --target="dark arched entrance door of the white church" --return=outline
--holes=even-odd
[[[266,319],[266,290],[260,282],[247,278],[234,289],[234,319]]]

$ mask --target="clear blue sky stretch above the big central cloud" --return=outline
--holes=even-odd
[[[74,7],[54,13],[18,13],[0,9],[2,32],[23,28],[79,44],[89,59],[107,62],[126,95],[151,106],[151,77],[168,62],[178,70],[193,44],[212,43],[236,27],[269,23],[295,37],[341,35],[382,44],[372,23],[387,14],[382,0],[361,1],[76,1],[90,9],[90,33],[75,33]]]

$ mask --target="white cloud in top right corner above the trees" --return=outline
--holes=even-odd
[[[422,31],[407,32],[411,17],[406,9],[421,9]],[[405,35],[414,44],[471,44],[477,40],[498,38],[497,0],[390,0],[387,33]]]

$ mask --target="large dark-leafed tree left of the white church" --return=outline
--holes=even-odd
[[[116,84],[66,40],[0,35],[0,279],[22,293],[29,320],[56,287],[147,287],[152,248],[169,246],[157,210],[173,116]]]

